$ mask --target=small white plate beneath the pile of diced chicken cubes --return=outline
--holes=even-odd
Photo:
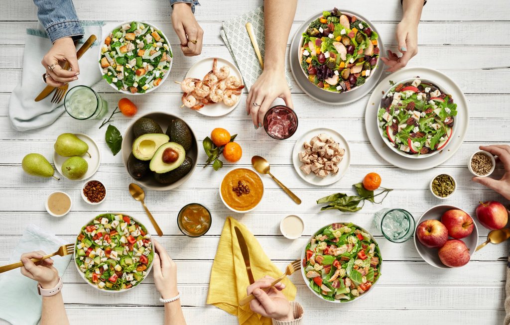
[[[309,175],[304,174],[302,170],[299,169],[301,165],[303,164],[301,161],[299,161],[299,152],[303,151],[303,143],[305,141],[310,142],[310,140],[317,136],[320,133],[326,133],[328,136],[332,137],[336,142],[340,144],[340,148],[345,149],[345,155],[342,161],[340,161],[340,164],[338,164],[338,173],[334,175],[333,173],[330,173],[324,178],[320,178],[315,176],[314,173],[310,173]],[[340,133],[338,133],[335,130],[319,127],[313,130],[310,130],[306,133],[304,133],[301,138],[296,142],[294,145],[294,150],[292,150],[292,163],[294,165],[294,169],[296,170],[299,177],[301,177],[305,182],[318,185],[318,186],[326,186],[333,184],[340,180],[342,176],[344,176],[345,172],[347,172],[347,169],[349,168],[350,164],[350,149],[349,144],[347,141],[342,137]]]

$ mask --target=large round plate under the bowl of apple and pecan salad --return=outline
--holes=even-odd
[[[453,102],[457,104],[457,116],[455,117],[455,134],[453,139],[450,140],[448,146],[442,150],[441,154],[425,157],[423,159],[410,159],[404,157],[396,152],[393,152],[390,147],[386,145],[379,134],[379,126],[377,125],[376,116],[379,108],[379,103],[382,94],[386,93],[390,85],[390,80],[403,80],[406,78],[420,77],[437,82],[437,85],[444,85],[445,89],[453,97]],[[365,129],[367,131],[368,140],[374,147],[374,150],[393,166],[409,169],[409,170],[426,170],[438,165],[443,164],[461,147],[469,124],[469,112],[466,97],[462,93],[458,85],[450,79],[447,75],[430,68],[416,67],[403,69],[390,74],[383,79],[377,87],[372,91],[372,95],[368,99],[367,107],[365,110]]]

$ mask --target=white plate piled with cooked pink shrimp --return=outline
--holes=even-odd
[[[222,116],[239,104],[244,89],[241,72],[230,61],[206,58],[195,63],[181,84],[182,107],[205,116]]]

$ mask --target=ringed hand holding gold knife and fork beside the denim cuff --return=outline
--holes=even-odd
[[[71,70],[62,69],[66,61],[69,62]],[[77,80],[80,67],[72,38],[64,37],[56,40],[52,48],[42,58],[41,64],[46,69],[46,84],[49,86],[61,87]],[[49,69],[52,65],[54,65],[53,71]]]

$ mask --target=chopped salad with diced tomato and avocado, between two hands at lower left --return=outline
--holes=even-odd
[[[80,231],[74,260],[99,289],[129,289],[147,276],[152,247],[145,227],[130,216],[100,214]]]

